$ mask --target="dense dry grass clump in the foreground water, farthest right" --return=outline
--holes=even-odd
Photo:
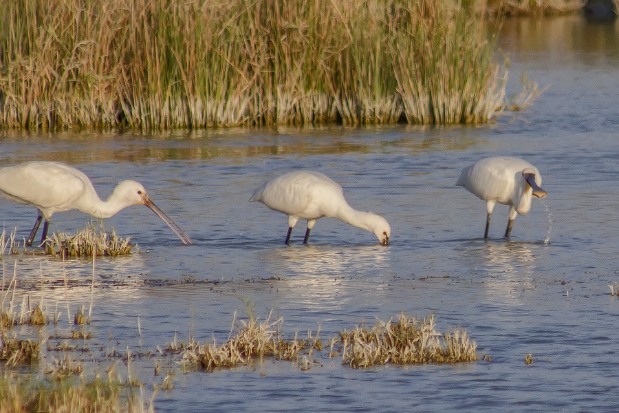
[[[378,320],[372,329],[355,328],[340,333],[343,363],[353,368],[376,364],[456,363],[475,361],[477,344],[464,330],[441,335],[434,317],[422,321],[401,314],[398,323]]]

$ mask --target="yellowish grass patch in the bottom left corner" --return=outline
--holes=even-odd
[[[152,413],[138,390],[117,380],[64,379],[37,381],[15,374],[0,377],[0,412],[127,412]]]

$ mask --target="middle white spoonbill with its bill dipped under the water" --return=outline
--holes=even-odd
[[[274,211],[288,215],[288,233],[285,243],[298,220],[307,220],[303,244],[318,218],[338,218],[360,229],[370,231],[381,244],[389,244],[391,228],[387,221],[371,212],[352,209],[344,199],[339,184],[320,172],[293,171],[274,178],[259,187],[250,202],[259,201]]]

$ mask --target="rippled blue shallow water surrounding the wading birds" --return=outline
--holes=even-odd
[[[244,317],[243,300],[255,303],[261,319],[270,310],[281,315],[288,337],[320,328],[325,341],[375,317],[433,313],[439,331],[466,329],[492,361],[353,370],[327,350],[307,371],[264,361],[182,374],[167,360],[162,370],[177,372],[175,389],[158,392],[155,408],[615,411],[619,301],[608,284],[619,283],[618,27],[573,17],[508,21],[501,47],[510,54],[512,78],[524,71],[550,88],[524,114],[491,126],[8,134],[2,165],[69,162],[102,197],[119,180],[138,180],[195,243],[182,245],[142,207],[106,220],[140,253],[96,261],[94,338],[76,359],[105,371],[116,361],[105,357],[112,350],[155,352],[175,334],[222,343],[235,313]],[[485,204],[455,180],[462,167],[495,154],[530,160],[548,196],[517,218],[509,241],[502,238],[508,208],[498,205],[485,242]],[[387,218],[391,245],[323,219],[309,245],[301,244],[299,224],[284,246],[285,216],[248,200],[265,180],[296,168],[322,171],[343,186],[353,207]],[[0,202],[3,224],[17,225],[20,236],[35,216]],[[74,231],[88,220],[58,213],[52,231]],[[43,337],[69,328],[67,303],[69,314],[89,306],[89,260],[6,257],[4,265],[7,280],[17,265],[21,288],[63,311],[61,324],[47,326]],[[534,363],[527,365],[529,353]],[[153,363],[135,362],[145,390],[163,380],[153,377]]]

